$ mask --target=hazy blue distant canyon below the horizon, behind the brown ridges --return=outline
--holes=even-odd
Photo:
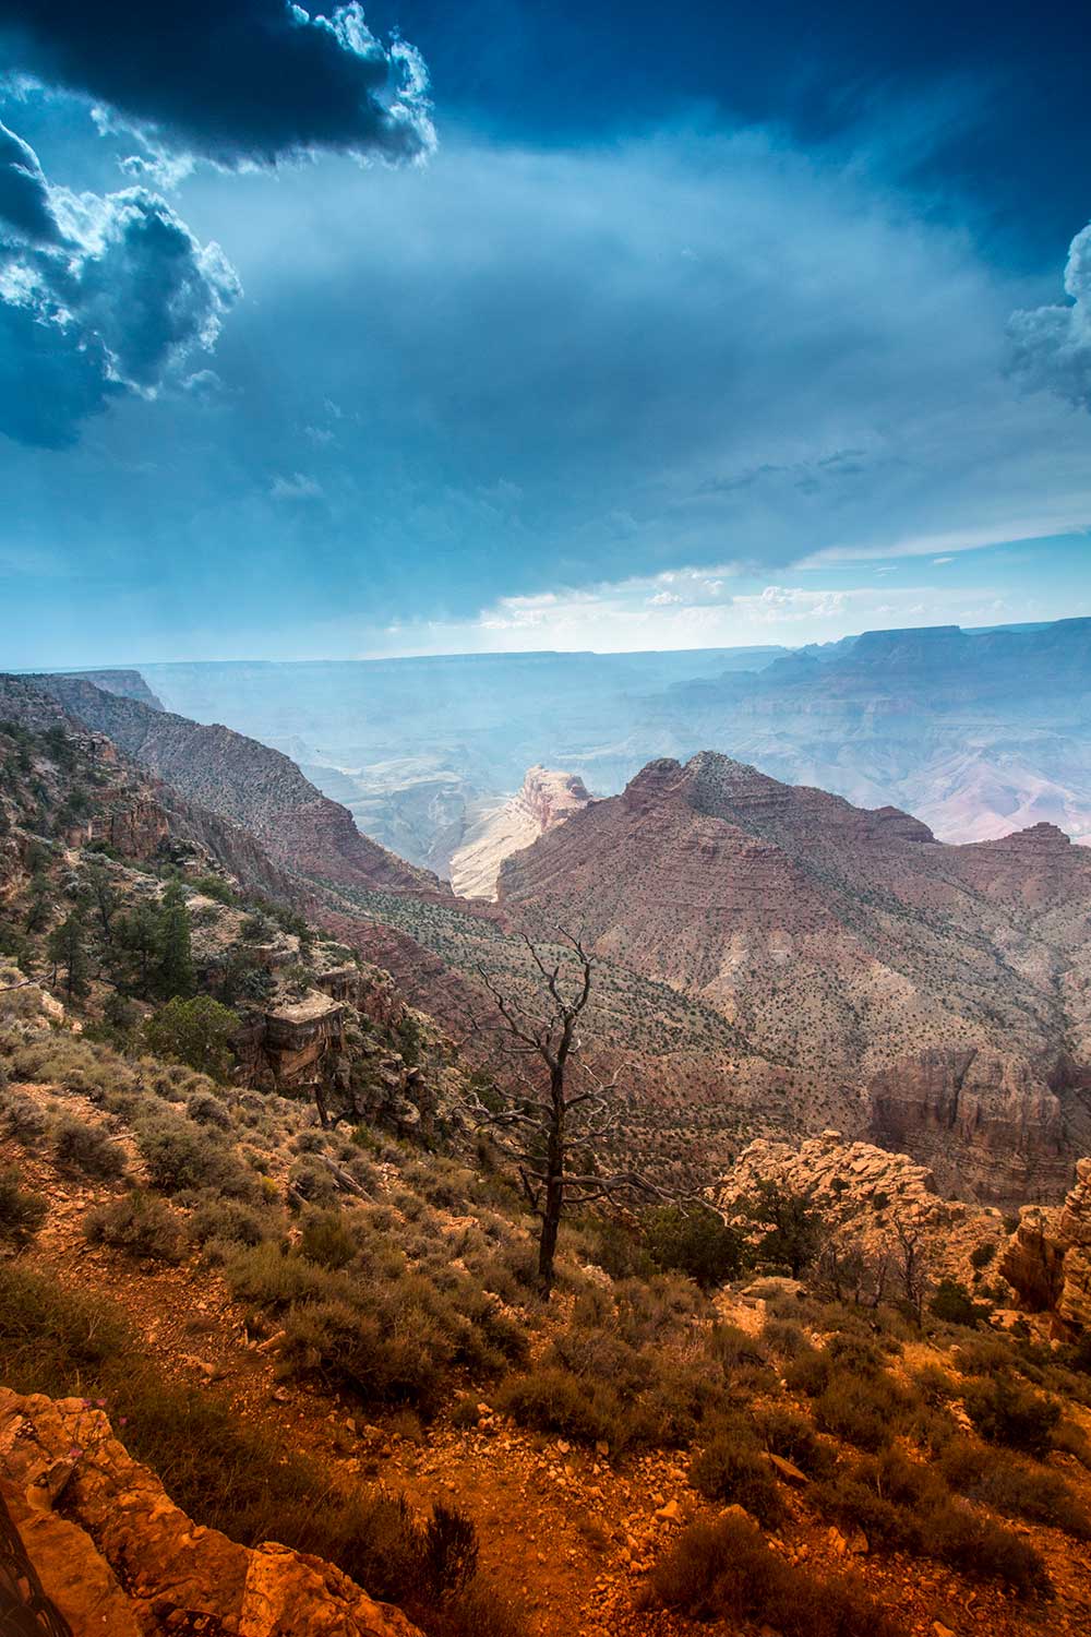
[[[903,807],[945,841],[1035,822],[1086,838],[1089,630],[1070,619],[877,630],[798,650],[208,661],[149,665],[129,681],[97,674],[106,689],[286,753],[366,835],[448,877],[451,855],[512,799],[527,768],[566,768],[612,796],[644,763],[708,746],[860,807]]]

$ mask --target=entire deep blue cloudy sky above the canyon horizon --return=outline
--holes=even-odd
[[[0,665],[1091,614],[1076,8],[0,0]]]

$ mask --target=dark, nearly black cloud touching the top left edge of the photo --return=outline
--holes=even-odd
[[[229,167],[314,149],[406,160],[435,142],[419,52],[383,46],[358,3],[0,0],[5,57]]]

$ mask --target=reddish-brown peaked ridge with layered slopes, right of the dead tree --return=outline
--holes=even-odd
[[[945,846],[702,753],[509,858],[499,900],[854,1079],[860,1133],[981,1198],[1057,1198],[1091,1148],[1091,853],[1050,825]]]

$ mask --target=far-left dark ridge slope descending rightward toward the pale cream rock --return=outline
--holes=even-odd
[[[31,681],[183,797],[242,825],[294,873],[394,891],[438,891],[429,871],[360,835],[348,809],[316,791],[280,751],[231,728],[200,727],[139,699],[105,692],[82,678]]]

